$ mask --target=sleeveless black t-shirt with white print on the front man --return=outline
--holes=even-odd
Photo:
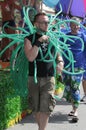
[[[32,43],[32,46],[34,46],[36,40],[41,36],[42,35],[35,33],[33,35],[27,36],[26,38],[29,39]],[[37,77],[54,76],[53,57],[55,54],[55,48],[52,47],[50,49],[51,51],[50,54],[52,54],[52,61],[49,61],[51,60],[51,57],[49,56],[49,53],[47,53],[48,47],[49,43],[42,43],[40,47],[41,51],[39,51],[38,56],[36,57]],[[46,56],[46,54],[48,55]],[[43,61],[43,57],[45,56],[46,58],[44,58],[44,60],[46,61]],[[34,76],[34,68],[35,68],[34,62],[29,62],[29,76]]]

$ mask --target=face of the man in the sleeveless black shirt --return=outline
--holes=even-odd
[[[47,32],[48,30],[49,18],[48,16],[41,15],[35,22],[35,26],[42,32]]]

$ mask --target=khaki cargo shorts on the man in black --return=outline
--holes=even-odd
[[[55,78],[43,77],[37,80],[38,82],[34,83],[34,77],[29,77],[29,109],[33,112],[51,113],[56,105]]]

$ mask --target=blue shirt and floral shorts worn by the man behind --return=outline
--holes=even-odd
[[[71,50],[73,57],[74,57],[74,71],[79,72],[82,69],[84,70],[84,52],[83,50],[83,43],[84,35],[83,33],[78,32],[76,35],[71,34],[71,32],[67,33],[70,39],[66,41],[68,44],[69,50]],[[73,37],[72,37],[73,36]],[[82,40],[81,40],[82,39]],[[68,52],[65,51],[67,54]],[[68,65],[69,61],[67,58],[64,57],[65,67]],[[71,71],[72,66],[70,65],[67,70]],[[63,97],[66,98],[68,102],[73,101],[75,107],[79,106],[80,102],[80,83],[83,77],[83,73],[81,74],[64,74],[63,79],[65,83],[65,90]]]

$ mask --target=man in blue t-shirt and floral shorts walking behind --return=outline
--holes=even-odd
[[[63,98],[65,98],[68,102],[72,104],[72,110],[68,114],[68,116],[71,116],[71,121],[73,123],[78,121],[78,107],[80,104],[80,83],[83,78],[83,70],[84,70],[84,56],[83,56],[83,50],[82,50],[82,42],[80,38],[83,40],[84,44],[86,43],[84,41],[84,35],[79,31],[80,30],[80,20],[77,17],[72,17],[72,21],[70,21],[70,29],[71,31],[68,32],[66,35],[70,37],[73,41],[67,40],[66,44],[70,45],[69,50],[72,52],[74,57],[74,71],[78,72],[78,74],[64,74],[64,84],[65,84],[65,90],[63,93]],[[74,21],[76,22],[74,22]],[[75,37],[76,36],[76,37]],[[79,38],[78,38],[79,37]],[[67,52],[65,52],[67,54]],[[64,67],[68,65],[68,60],[66,58],[64,59]],[[82,61],[82,62],[81,62]],[[72,66],[68,67],[68,71],[72,71]],[[82,72],[79,74],[79,72]]]

